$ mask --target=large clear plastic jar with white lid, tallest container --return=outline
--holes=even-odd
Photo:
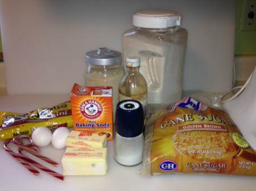
[[[180,27],[181,15],[145,10],[133,14],[133,29],[123,36],[123,57],[141,58],[141,74],[148,86],[148,103],[179,101],[188,32]]]

